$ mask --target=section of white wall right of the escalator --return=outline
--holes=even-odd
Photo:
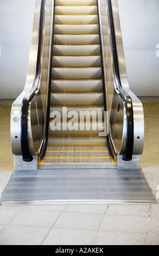
[[[130,88],[159,96],[159,0],[118,0],[118,6]]]

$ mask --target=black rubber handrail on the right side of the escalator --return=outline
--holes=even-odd
[[[128,93],[122,87],[122,83],[120,81],[120,74],[119,74],[119,65],[118,65],[118,54],[117,54],[117,47],[116,47],[116,36],[115,36],[115,27],[113,23],[113,14],[112,14],[112,4],[111,0],[107,0],[107,8],[108,8],[108,16],[110,22],[110,35],[111,35],[111,44],[112,44],[112,57],[113,57],[113,64],[114,64],[114,75],[116,86],[119,90],[118,95],[124,102],[124,107],[126,111],[126,148],[125,154],[123,155],[124,161],[132,160],[133,155],[133,141],[134,141],[134,123],[133,123],[133,106],[132,100]]]

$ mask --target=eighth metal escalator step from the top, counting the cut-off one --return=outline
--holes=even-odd
[[[101,79],[101,68],[52,68],[52,79]]]

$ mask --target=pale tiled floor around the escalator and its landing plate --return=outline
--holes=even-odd
[[[141,166],[159,203],[159,103],[143,103]],[[0,105],[1,195],[14,170],[10,106]],[[159,204],[0,206],[0,245],[159,245]]]

